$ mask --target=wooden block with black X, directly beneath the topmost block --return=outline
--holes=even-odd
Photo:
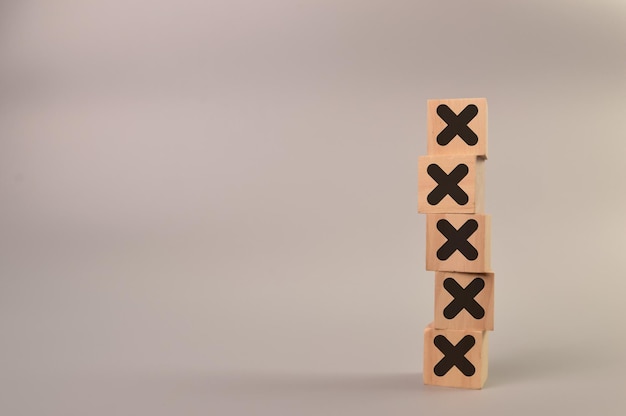
[[[476,156],[421,156],[417,162],[417,212],[480,213],[485,161]]]

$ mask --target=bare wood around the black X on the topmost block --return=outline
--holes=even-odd
[[[478,108],[478,113],[469,121],[467,126],[478,136],[478,142],[474,145],[468,145],[459,136],[456,136],[445,145],[437,143],[437,136],[448,126],[448,123],[437,114],[437,108],[440,105],[446,105],[458,115],[468,105],[472,104]],[[487,99],[458,98],[428,100],[426,124],[429,155],[475,155],[485,159],[487,158]]]

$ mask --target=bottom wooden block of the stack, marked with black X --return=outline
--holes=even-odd
[[[424,384],[481,389],[488,373],[487,332],[424,330]]]

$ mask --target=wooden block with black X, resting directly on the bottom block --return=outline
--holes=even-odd
[[[493,273],[435,273],[436,329],[493,331]]]

